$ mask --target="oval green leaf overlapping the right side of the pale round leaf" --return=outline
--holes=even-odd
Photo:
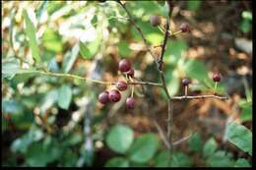
[[[158,150],[159,141],[155,134],[145,134],[139,137],[128,151],[130,160],[145,163],[150,160]]]

